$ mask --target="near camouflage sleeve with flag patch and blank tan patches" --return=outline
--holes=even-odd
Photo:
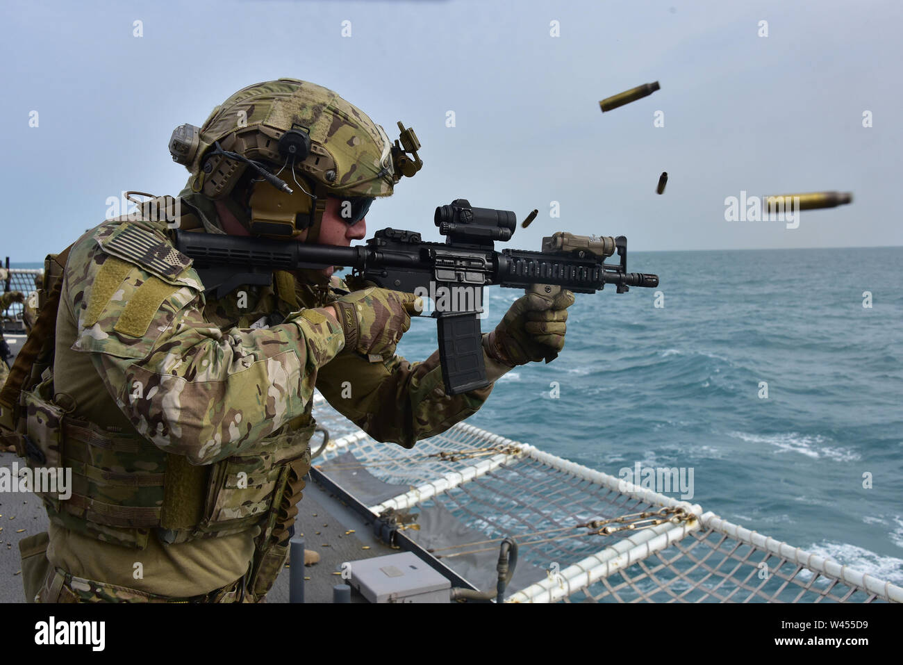
[[[72,350],[91,354],[139,433],[191,464],[210,464],[304,413],[318,369],[343,348],[338,324],[304,310],[269,329],[221,331],[205,321],[202,286],[185,257],[163,245],[178,255],[165,255],[175,264],[167,269],[132,256],[136,242],[162,236],[126,242],[106,227],[73,248],[61,306],[78,323]]]

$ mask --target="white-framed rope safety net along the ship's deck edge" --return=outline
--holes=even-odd
[[[313,464],[472,584],[494,586],[501,540],[517,541],[506,602],[903,601],[897,585],[535,446],[460,423],[406,450],[315,404],[330,443]]]

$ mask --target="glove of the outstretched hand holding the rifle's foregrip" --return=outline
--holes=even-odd
[[[492,360],[515,367],[561,351],[567,308],[572,304],[573,293],[567,290],[555,295],[554,300],[537,294],[519,298],[487,335],[486,352]]]

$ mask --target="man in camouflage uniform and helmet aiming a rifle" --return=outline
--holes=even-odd
[[[297,160],[281,140],[292,131],[310,140]],[[259,601],[284,567],[310,468],[314,388],[369,435],[408,448],[492,389],[447,396],[438,351],[396,356],[414,295],[350,288],[331,268],[205,295],[172,247],[172,220],[154,214],[176,211],[182,230],[348,246],[364,237],[373,198],[419,168],[381,126],[328,89],[277,80],[238,91],[186,136],[171,145],[191,172],[178,201],[151,201],[71,248],[52,376],[20,402],[39,448],[20,454],[73,471],[68,501],[42,495],[49,547],[29,558],[46,573],[23,564],[30,599]],[[484,335],[489,379],[560,350],[571,303],[569,292],[518,300]]]

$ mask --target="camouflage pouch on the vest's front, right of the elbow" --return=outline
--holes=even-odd
[[[237,533],[264,520],[274,501],[282,499],[285,465],[310,454],[313,429],[307,426],[268,436],[217,463],[196,535]]]

